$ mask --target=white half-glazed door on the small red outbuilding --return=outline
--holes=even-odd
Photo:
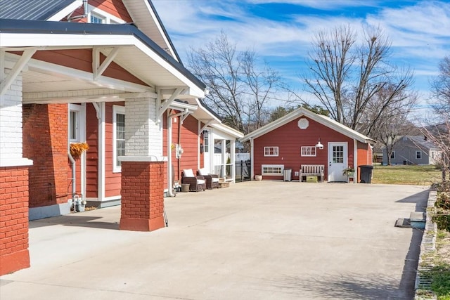
[[[328,182],[347,182],[347,176],[342,174],[347,168],[347,152],[347,143],[328,143]]]

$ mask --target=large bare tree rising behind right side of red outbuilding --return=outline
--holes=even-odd
[[[403,101],[412,83],[412,72],[387,63],[390,40],[380,28],[364,30],[364,41],[349,26],[319,32],[309,53],[311,77],[304,77],[307,90],[316,96],[336,121],[370,135],[385,110]],[[373,120],[367,117],[372,99],[384,93]]]

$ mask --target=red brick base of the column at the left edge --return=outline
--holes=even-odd
[[[28,167],[0,167],[0,275],[30,267]]]

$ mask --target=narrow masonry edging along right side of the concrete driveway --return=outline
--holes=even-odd
[[[422,242],[420,243],[420,255],[416,274],[416,292],[414,296],[416,300],[437,299],[436,295],[428,293],[431,286],[431,278],[423,273],[431,270],[435,266],[433,256],[436,251],[437,225],[431,221],[431,218],[435,213],[436,197],[436,191],[430,191],[428,195],[425,230],[423,232]]]

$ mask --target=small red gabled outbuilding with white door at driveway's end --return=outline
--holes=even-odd
[[[326,181],[347,181],[342,171],[349,166],[354,167],[359,178],[358,166],[372,164],[374,142],[303,107],[248,133],[240,141],[250,141],[252,177],[281,180],[284,169],[292,169],[292,178],[299,180],[302,164],[321,164]]]

